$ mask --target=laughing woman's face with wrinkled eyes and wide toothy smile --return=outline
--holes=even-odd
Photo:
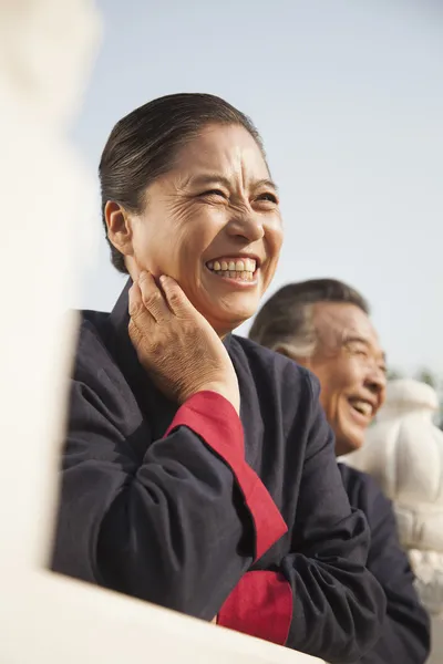
[[[185,145],[128,224],[131,276],[173,277],[219,334],[255,313],[282,241],[276,187],[237,125],[208,125]]]

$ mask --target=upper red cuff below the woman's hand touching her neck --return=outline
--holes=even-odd
[[[178,408],[165,435],[179,426],[198,434],[231,469],[254,522],[258,560],[288,528],[265,485],[245,460],[243,426],[234,406],[216,392],[197,392]]]

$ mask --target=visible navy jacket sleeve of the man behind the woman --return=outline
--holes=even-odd
[[[365,484],[371,526],[368,569],[384,590],[387,616],[379,641],[361,662],[423,664],[431,647],[430,620],[413,587],[414,575],[399,541],[392,505],[371,477]]]

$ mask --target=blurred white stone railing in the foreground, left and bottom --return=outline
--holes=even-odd
[[[93,250],[66,131],[99,35],[89,0],[0,0],[0,662],[319,662],[45,569],[74,338],[64,310]]]

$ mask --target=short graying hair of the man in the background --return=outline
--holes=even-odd
[[[319,302],[354,304],[370,313],[365,299],[337,279],[288,283],[257,313],[249,338],[272,351],[286,351],[292,357],[310,357],[317,346],[313,308]]]

